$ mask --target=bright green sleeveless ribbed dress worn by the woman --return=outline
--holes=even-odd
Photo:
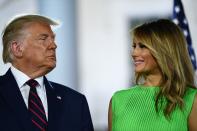
[[[159,87],[136,85],[116,92],[112,97],[112,131],[187,131],[188,116],[197,93],[188,88],[183,110],[178,107],[166,119],[155,110],[155,93]]]

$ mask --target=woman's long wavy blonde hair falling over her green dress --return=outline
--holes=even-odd
[[[185,36],[173,22],[160,19],[136,27],[133,38],[140,40],[150,50],[160,67],[162,79],[155,107],[158,112],[160,103],[165,98],[167,103],[163,111],[168,117],[177,105],[183,108],[183,96],[187,88],[194,88],[194,70]],[[136,73],[136,83],[144,77],[143,74]]]

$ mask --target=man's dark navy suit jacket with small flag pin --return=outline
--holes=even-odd
[[[84,95],[44,77],[48,102],[47,131],[93,131]],[[0,131],[33,131],[28,110],[9,69],[0,76]]]

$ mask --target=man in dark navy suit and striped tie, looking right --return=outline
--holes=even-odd
[[[0,131],[93,131],[85,96],[45,77],[56,66],[52,25],[25,15],[3,31],[3,61],[11,67],[0,77]]]

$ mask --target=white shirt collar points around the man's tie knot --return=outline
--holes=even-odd
[[[14,66],[11,66],[11,71],[12,71],[12,74],[14,75],[14,78],[15,78],[19,88],[23,87],[25,82],[27,82],[29,79],[31,79],[29,76],[27,76],[25,73],[21,72],[20,70],[18,70]],[[39,83],[39,85],[40,85],[39,87],[44,86],[43,76],[35,78],[35,80]]]

